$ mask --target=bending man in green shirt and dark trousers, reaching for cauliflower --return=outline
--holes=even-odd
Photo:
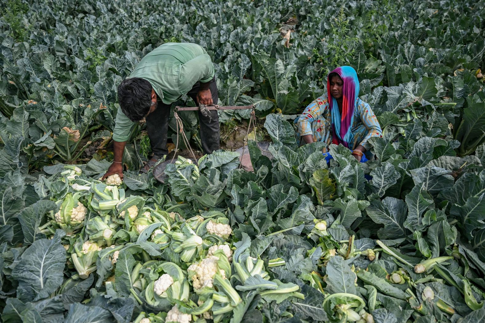
[[[188,94],[198,106],[217,103],[214,66],[206,50],[192,43],[165,43],[148,53],[131,75],[118,86],[120,109],[113,132],[114,160],[104,177],[123,177],[123,151],[134,122],[146,118],[153,157],[140,169],[147,172],[168,154],[168,117],[172,103]],[[200,139],[204,154],[219,149],[219,118],[211,121],[199,111]]]

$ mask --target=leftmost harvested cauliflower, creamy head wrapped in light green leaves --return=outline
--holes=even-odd
[[[75,231],[83,227],[87,209],[79,201],[80,193],[67,194],[64,200],[56,202],[60,206],[59,211],[52,215],[56,225],[72,235]],[[53,211],[51,211],[51,214]]]

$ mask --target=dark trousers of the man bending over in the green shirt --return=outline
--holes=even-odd
[[[200,89],[200,82],[197,82],[192,87],[192,90],[187,93],[198,106],[196,95]],[[215,77],[209,83],[210,93],[212,94],[212,101],[217,104],[217,86]],[[146,117],[146,129],[148,131],[148,138],[152,148],[153,156],[161,158],[168,154],[167,137],[168,137],[168,118],[170,116],[171,105],[164,104],[162,101],[158,102],[155,111]],[[217,111],[210,110],[212,121],[209,117],[204,117],[199,111],[200,123],[200,140],[202,141],[202,149],[204,154],[210,154],[219,149],[219,116]],[[190,139],[190,138],[189,138]]]

